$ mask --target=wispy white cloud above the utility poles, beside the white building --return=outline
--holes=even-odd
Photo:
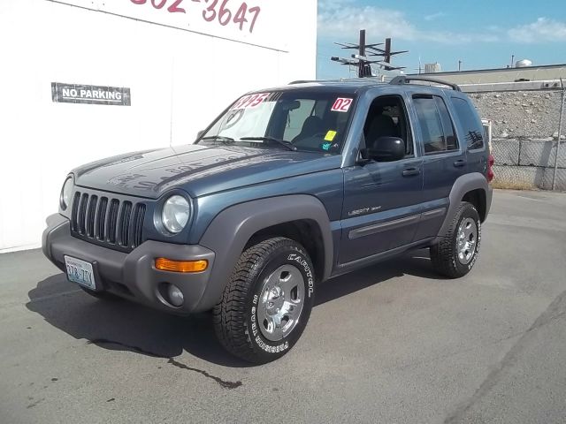
[[[432,15],[431,15],[432,16]],[[320,0],[318,2],[318,34],[321,38],[341,41],[352,38],[365,28],[372,40],[392,37],[402,41],[463,44],[497,42],[499,36],[490,32],[470,33],[423,30],[415,27],[402,11],[376,6],[356,6],[353,0]]]

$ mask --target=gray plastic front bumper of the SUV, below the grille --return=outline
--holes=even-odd
[[[126,254],[74,238],[65,216],[49,216],[47,225],[42,236],[43,254],[64,272],[65,255],[91,262],[101,291],[173,314],[203,312],[213,307],[201,305],[215,259],[214,252],[206,247],[148,240]],[[203,272],[187,274],[162,271],[155,268],[155,259],[160,257],[174,261],[207,260],[209,266]],[[183,293],[181,307],[173,307],[164,300],[160,286],[165,283],[176,285]]]

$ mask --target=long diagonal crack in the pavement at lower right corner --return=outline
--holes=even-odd
[[[478,390],[476,390],[466,402],[456,407],[454,413],[448,415],[447,419],[444,420],[444,424],[453,424],[461,420],[463,415],[470,411],[470,408],[477,404],[481,398],[484,398],[486,394],[493,389],[495,384],[499,382],[503,370],[516,364],[519,353],[523,350],[524,345],[526,345],[533,332],[565,314],[566,291],[556,296],[550,305],[548,305],[547,309],[542,314],[539,314],[539,317],[532,323],[532,326],[524,331],[523,336],[517,340],[516,344],[509,349],[509,352],[505,354],[503,359],[486,376],[484,381],[479,385]]]

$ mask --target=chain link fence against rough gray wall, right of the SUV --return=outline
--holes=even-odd
[[[480,115],[490,121],[493,186],[566,192],[562,80],[558,90],[508,88],[470,94]]]

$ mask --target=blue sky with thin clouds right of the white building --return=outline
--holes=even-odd
[[[350,76],[348,66],[330,57],[352,50],[334,42],[393,39],[393,50],[409,50],[393,64],[417,73],[421,64],[442,71],[505,67],[530,59],[534,64],[566,63],[564,0],[318,0],[317,78]],[[352,74],[353,76],[354,74]]]

